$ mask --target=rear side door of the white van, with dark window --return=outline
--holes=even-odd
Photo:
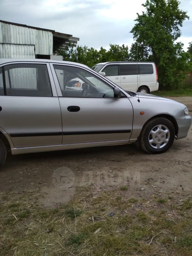
[[[138,65],[137,63],[120,64],[121,87],[124,90],[137,91],[138,81]]]

